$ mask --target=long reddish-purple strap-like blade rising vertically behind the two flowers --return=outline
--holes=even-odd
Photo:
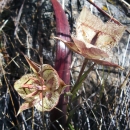
[[[69,28],[69,23],[66,14],[57,0],[51,0],[51,3],[56,17],[57,36],[66,41],[70,41],[70,28]],[[64,43],[58,41],[56,47],[55,69],[57,70],[60,78],[67,85],[70,84],[70,64],[71,64],[70,50],[65,46]],[[67,87],[65,92],[69,90],[70,88]],[[62,112],[60,112],[57,109],[53,109],[51,111],[51,121],[55,121],[56,119],[60,118],[59,122],[63,127],[65,127],[66,124],[67,102],[68,102],[67,98],[65,98],[64,95],[61,95],[57,107]],[[58,124],[56,124],[56,122],[54,125],[56,127],[59,127]]]

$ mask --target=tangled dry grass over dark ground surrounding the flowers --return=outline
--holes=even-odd
[[[4,2],[6,4],[6,1]],[[43,114],[35,108],[16,116],[23,100],[13,87],[17,79],[31,71],[20,51],[39,64],[54,65],[55,46],[54,41],[50,39],[53,34],[55,34],[55,20],[49,0],[42,3],[14,0],[11,6],[2,6],[0,14],[1,130],[49,130],[50,125],[53,125],[49,112]],[[130,129],[130,68],[129,65],[125,66],[127,60],[128,63],[130,61],[125,58],[129,58],[128,35],[126,33],[125,39],[121,40],[121,43],[126,42],[123,44],[125,49],[123,60],[117,55],[119,64],[124,65],[125,70],[98,66],[94,68],[82,89],[78,91],[76,103],[72,103],[71,109],[68,110],[69,113],[74,111],[68,129],[73,130],[73,127],[79,130]],[[118,51],[121,43],[116,48]],[[73,60],[72,85],[79,73],[82,57],[74,55]]]

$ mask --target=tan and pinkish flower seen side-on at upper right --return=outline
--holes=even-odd
[[[111,50],[120,40],[125,29],[125,26],[117,25],[111,21],[103,23],[84,7],[76,22],[76,36],[71,36],[73,42],[65,41],[59,37],[54,38],[61,40],[72,51],[97,64],[120,67],[106,61],[106,58],[112,57]]]

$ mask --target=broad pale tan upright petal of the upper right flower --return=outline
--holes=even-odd
[[[125,29],[126,26],[118,25],[111,21],[104,23],[101,19],[93,15],[86,7],[83,7],[76,23],[77,38],[81,37],[81,39],[84,39],[85,43],[91,43],[95,34],[100,32],[96,45],[98,47],[105,47],[105,45],[107,45],[110,49],[117,44]]]

